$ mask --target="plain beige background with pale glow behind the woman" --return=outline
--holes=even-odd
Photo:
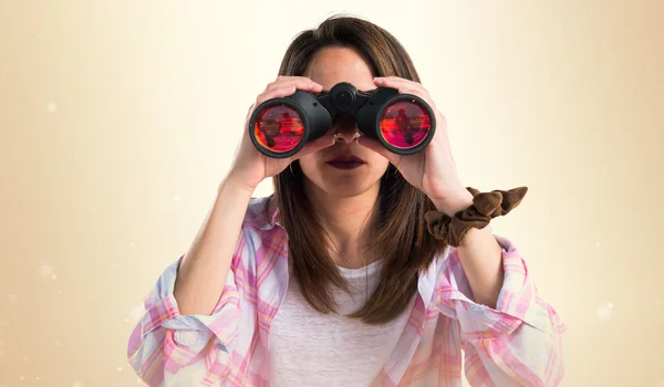
[[[664,386],[663,3],[3,0],[0,387],[137,385],[143,296],[336,11],[405,44],[467,185],[530,187],[494,227],[569,326],[564,386]]]

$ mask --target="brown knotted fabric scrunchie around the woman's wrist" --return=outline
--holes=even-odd
[[[452,247],[461,244],[461,240],[471,228],[484,229],[491,219],[509,213],[519,206],[526,196],[528,187],[512,188],[508,191],[492,190],[480,192],[473,187],[467,188],[473,194],[473,206],[449,217],[439,211],[428,211],[424,215],[428,232],[438,240],[444,240]]]

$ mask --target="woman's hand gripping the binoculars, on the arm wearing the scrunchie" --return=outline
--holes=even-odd
[[[458,177],[449,146],[446,119],[428,91],[417,82],[396,76],[378,77],[374,83],[378,87],[396,88],[400,94],[413,94],[424,100],[434,111],[436,132],[432,142],[414,155],[394,154],[377,139],[367,136],[360,136],[357,140],[360,145],[390,160],[409,184],[428,196],[439,211],[453,216],[473,205],[473,195],[461,185]]]

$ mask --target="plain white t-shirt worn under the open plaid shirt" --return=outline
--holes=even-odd
[[[372,294],[382,261],[362,269],[340,268],[353,295],[336,291],[339,314],[321,314],[291,276],[270,328],[274,386],[369,386],[390,358],[415,302],[393,322],[376,326],[346,317]]]

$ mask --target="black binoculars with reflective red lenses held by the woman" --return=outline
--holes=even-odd
[[[287,158],[328,133],[340,115],[351,115],[363,135],[400,155],[424,149],[436,126],[430,106],[416,95],[391,87],[362,92],[342,82],[329,92],[298,90],[263,102],[251,114],[249,135],[263,155]]]

